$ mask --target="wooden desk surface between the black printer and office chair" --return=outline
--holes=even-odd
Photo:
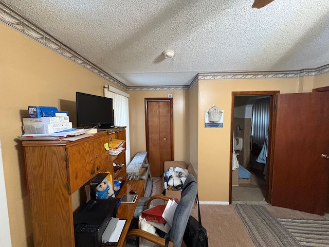
[[[126,181],[123,185],[123,187],[121,188],[120,192],[118,193],[118,198],[121,198],[123,195],[128,195],[129,191],[131,191],[132,189],[137,190],[137,195],[138,195],[138,199],[139,197],[143,197],[144,196],[144,180],[129,180]],[[138,200],[135,203],[121,203],[119,208],[118,208],[118,215],[117,218],[120,219],[126,219],[126,223],[123,227],[120,239],[119,239],[119,243],[118,243],[118,247],[124,246],[124,239],[125,236],[127,235],[127,232],[129,230],[129,226],[130,223],[132,222],[132,219],[134,217],[134,213],[135,213],[135,209],[137,206]]]

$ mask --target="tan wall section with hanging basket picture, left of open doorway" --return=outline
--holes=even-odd
[[[298,78],[199,80],[198,193],[200,201],[229,201],[231,96],[239,91],[297,93]],[[223,128],[205,128],[205,110],[224,110]]]

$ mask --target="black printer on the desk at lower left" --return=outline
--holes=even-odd
[[[102,234],[118,213],[119,198],[92,199],[73,214],[76,247],[101,247]]]

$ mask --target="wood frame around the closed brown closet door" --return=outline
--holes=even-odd
[[[149,101],[169,101],[170,102],[170,139],[171,139],[171,160],[174,160],[174,103],[173,98],[145,98],[145,137],[146,150],[149,150],[149,116],[148,116],[148,102]],[[149,152],[148,152],[149,157]]]

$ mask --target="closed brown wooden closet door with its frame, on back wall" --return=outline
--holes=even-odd
[[[161,177],[163,163],[174,157],[172,98],[146,98],[145,121],[151,174]]]

